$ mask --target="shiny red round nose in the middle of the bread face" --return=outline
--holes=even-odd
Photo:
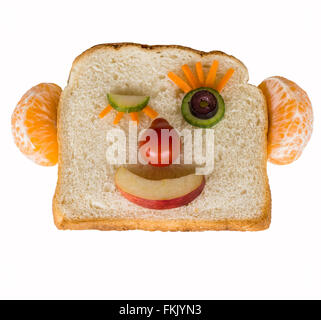
[[[142,158],[155,167],[169,166],[180,155],[178,132],[163,118],[155,119],[149,129],[152,129],[154,134],[147,130],[146,135],[143,135],[139,142],[139,152]]]

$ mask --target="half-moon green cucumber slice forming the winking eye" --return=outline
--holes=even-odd
[[[130,96],[122,94],[108,93],[109,104],[120,112],[138,112],[147,106],[148,96]]]

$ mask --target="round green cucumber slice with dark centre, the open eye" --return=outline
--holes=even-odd
[[[199,128],[211,128],[223,118],[225,103],[216,90],[201,87],[185,95],[181,111],[189,124]]]

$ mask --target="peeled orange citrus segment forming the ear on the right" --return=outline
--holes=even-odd
[[[310,140],[312,105],[306,92],[282,77],[265,79],[259,88],[269,113],[268,160],[289,164],[297,160]]]

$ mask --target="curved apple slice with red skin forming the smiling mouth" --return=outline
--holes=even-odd
[[[149,209],[181,207],[201,194],[204,176],[189,174],[175,179],[149,180],[126,168],[119,168],[115,183],[120,193],[129,201]]]

